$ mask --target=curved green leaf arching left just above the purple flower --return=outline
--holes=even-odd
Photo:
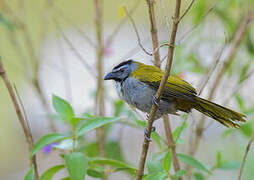
[[[59,133],[52,133],[52,134],[46,134],[45,136],[43,136],[42,138],[40,138],[33,146],[29,156],[30,158],[35,155],[35,153],[37,153],[40,149],[42,149],[43,147],[54,143],[54,142],[58,142],[64,139],[69,138],[69,136],[63,135],[63,134],[59,134]]]

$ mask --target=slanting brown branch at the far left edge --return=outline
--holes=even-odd
[[[15,93],[14,93],[14,90],[11,86],[11,83],[6,75],[6,72],[5,72],[5,69],[4,69],[4,66],[3,66],[3,63],[2,63],[2,60],[0,59],[0,76],[1,78],[3,79],[4,81],[4,84],[6,86],[6,88],[8,89],[8,92],[9,92],[9,95],[11,97],[11,100],[12,100],[12,103],[14,105],[14,108],[15,108],[15,111],[16,111],[16,114],[18,116],[18,119],[19,119],[19,123],[21,124],[21,127],[22,127],[22,130],[25,134],[25,137],[26,137],[26,141],[28,143],[28,149],[29,149],[29,152],[32,150],[33,148],[33,137],[32,137],[32,133],[26,123],[26,120],[22,114],[22,110],[20,109],[19,107],[19,104],[18,104],[18,100],[15,96]],[[35,169],[35,179],[36,180],[39,180],[39,174],[38,174],[38,169],[37,169],[37,163],[36,163],[36,156],[34,155],[31,159],[30,159],[30,164],[34,166],[34,169]]]

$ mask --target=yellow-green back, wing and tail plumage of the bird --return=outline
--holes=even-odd
[[[134,77],[157,90],[164,72],[155,66],[136,63],[138,67],[130,74],[130,77]],[[177,76],[170,76],[161,99],[167,101],[174,98],[178,110],[189,112],[194,108],[227,127],[239,127],[239,121],[245,122],[243,114],[199,98],[196,94],[195,88],[188,82]]]

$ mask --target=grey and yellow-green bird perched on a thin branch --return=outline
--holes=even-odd
[[[149,113],[153,103],[156,104],[155,119],[163,114],[177,114],[177,111],[188,113],[196,109],[227,127],[237,128],[239,122],[245,122],[243,114],[198,97],[196,90],[177,76],[169,76],[161,100],[157,103],[155,94],[163,75],[164,72],[158,67],[128,60],[115,66],[104,80],[115,80],[119,97],[143,112]]]

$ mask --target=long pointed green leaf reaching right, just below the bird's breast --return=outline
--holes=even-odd
[[[80,126],[77,127],[76,135],[79,137],[88,131],[96,129],[98,127],[104,126],[109,123],[113,123],[116,121],[121,120],[121,118],[117,117],[94,117],[89,118],[88,120],[84,121]]]

